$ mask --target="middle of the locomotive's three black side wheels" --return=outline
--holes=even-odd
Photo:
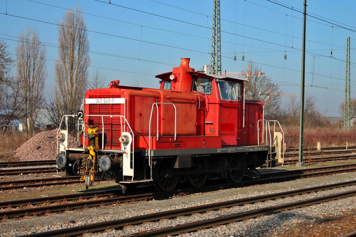
[[[192,160],[192,171],[193,174],[188,175],[188,183],[192,185],[193,188],[200,188],[204,185],[206,179],[208,179],[208,173],[201,173],[202,169],[208,167],[208,160],[206,157],[194,157]]]

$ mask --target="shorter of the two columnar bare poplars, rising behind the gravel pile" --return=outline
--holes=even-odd
[[[22,122],[25,124],[25,132],[28,136],[33,133],[38,109],[43,104],[47,77],[46,47],[41,44],[37,31],[32,31],[30,27],[27,28],[26,33],[21,31],[16,47],[16,58],[16,77],[21,85],[25,115]]]

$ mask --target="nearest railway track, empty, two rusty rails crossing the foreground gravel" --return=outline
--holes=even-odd
[[[267,195],[255,196],[255,197],[244,198],[244,199],[224,201],[224,202],[220,202],[220,203],[194,206],[194,207],[190,207],[190,208],[183,208],[183,209],[172,210],[172,211],[158,212],[158,213],[154,213],[154,214],[140,215],[140,216],[119,219],[119,220],[113,220],[113,221],[98,222],[98,223],[93,223],[93,224],[89,224],[89,225],[68,227],[68,228],[63,228],[60,230],[38,232],[38,233],[26,235],[26,236],[27,237],[64,236],[64,235],[78,236],[78,235],[82,235],[82,234],[88,233],[88,232],[105,231],[105,230],[108,230],[108,228],[121,229],[124,226],[126,226],[127,223],[130,223],[130,225],[141,225],[147,221],[153,222],[153,221],[159,221],[162,219],[173,219],[178,216],[187,216],[187,215],[192,215],[192,214],[196,214],[196,213],[204,213],[207,211],[214,211],[214,210],[219,210],[219,209],[223,209],[223,208],[231,208],[233,206],[238,206],[238,205],[241,206],[241,205],[245,205],[245,204],[253,204],[253,203],[257,203],[257,202],[261,202],[261,201],[274,200],[274,199],[278,199],[278,198],[286,198],[288,196],[300,195],[300,194],[305,194],[305,193],[310,193],[310,192],[318,192],[318,191],[322,191],[322,190],[334,189],[334,188],[345,187],[348,185],[355,185],[355,184],[356,184],[356,181],[354,180],[354,181],[348,181],[348,182],[342,182],[342,183],[336,183],[336,184],[321,185],[321,186],[317,186],[317,187],[290,190],[290,191],[281,192],[281,193],[267,194]],[[242,221],[242,220],[246,220],[246,219],[255,218],[255,217],[258,217],[261,215],[269,215],[271,213],[286,211],[286,210],[300,208],[300,207],[309,206],[309,205],[315,205],[315,204],[319,204],[319,203],[322,203],[325,201],[336,200],[339,198],[345,198],[345,197],[349,197],[352,195],[356,195],[356,190],[342,192],[342,193],[336,193],[336,194],[321,196],[318,198],[306,199],[306,200],[302,200],[302,201],[286,203],[286,204],[281,204],[281,205],[276,205],[276,206],[270,206],[267,208],[256,209],[256,210],[242,212],[242,213],[238,213],[238,214],[219,216],[219,217],[216,217],[213,219],[196,221],[193,223],[182,224],[182,225],[173,226],[173,227],[167,227],[164,229],[158,229],[158,230],[155,229],[152,231],[140,232],[140,233],[136,233],[136,234],[133,234],[130,236],[139,237],[139,236],[178,235],[179,233],[192,232],[192,231],[197,231],[202,228],[211,228],[211,227],[219,226],[219,225],[227,225],[227,224],[229,224],[231,222],[235,222],[235,221]]]

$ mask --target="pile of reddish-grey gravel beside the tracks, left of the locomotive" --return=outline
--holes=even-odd
[[[57,155],[57,129],[38,133],[14,152],[15,160],[54,160]],[[77,146],[77,139],[68,135],[68,146]]]

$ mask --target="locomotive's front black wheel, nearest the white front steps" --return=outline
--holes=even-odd
[[[153,173],[153,182],[155,182],[158,190],[164,192],[172,191],[179,181],[178,175],[172,175],[174,168],[171,163],[171,160],[164,158],[157,161],[157,165],[155,166]]]

